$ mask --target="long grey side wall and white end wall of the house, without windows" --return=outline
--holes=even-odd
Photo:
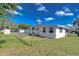
[[[43,32],[43,28],[45,28],[45,33]],[[34,35],[39,35],[40,37],[45,37],[45,38],[52,38],[52,39],[55,39],[55,38],[62,38],[62,37],[65,37],[67,35],[66,33],[66,30],[63,28],[62,32],[60,32],[60,27],[55,27],[55,26],[52,26],[53,28],[53,33],[50,33],[49,30],[50,30],[50,27],[49,26],[44,26],[44,27],[40,27],[38,28],[37,27],[34,27]],[[38,29],[38,30],[36,30]]]

